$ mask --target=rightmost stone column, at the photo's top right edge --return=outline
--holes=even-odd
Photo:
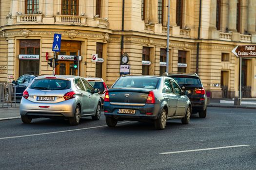
[[[256,3],[255,0],[248,0],[248,33],[256,34]]]

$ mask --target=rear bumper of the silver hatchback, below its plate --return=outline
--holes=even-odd
[[[41,108],[39,106],[49,106]],[[37,103],[22,98],[20,102],[20,115],[33,116],[39,118],[47,117],[73,117],[76,107],[74,99],[58,103]]]

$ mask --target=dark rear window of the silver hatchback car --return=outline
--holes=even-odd
[[[62,79],[37,79],[29,88],[39,90],[65,90],[71,87],[69,80]]]

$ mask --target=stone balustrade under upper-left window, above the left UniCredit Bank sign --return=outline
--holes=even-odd
[[[42,14],[23,14],[17,16],[17,24],[42,23]]]

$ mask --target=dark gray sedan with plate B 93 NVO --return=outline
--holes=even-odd
[[[167,119],[188,124],[191,103],[174,79],[163,76],[122,76],[106,92],[106,123],[150,120],[156,129],[164,129]]]

